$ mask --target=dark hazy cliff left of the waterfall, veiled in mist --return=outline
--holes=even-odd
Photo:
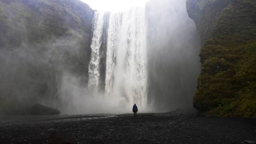
[[[0,0],[1,109],[57,107],[67,73],[87,84],[93,15],[80,0]]]

